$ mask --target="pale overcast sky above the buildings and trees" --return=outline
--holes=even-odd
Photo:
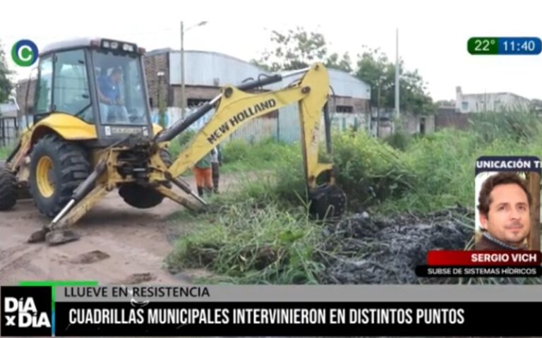
[[[118,2],[118,3],[117,3]],[[17,78],[28,68],[11,62],[16,41],[37,47],[73,37],[129,40],[148,50],[180,47],[180,21],[189,28],[185,49],[222,52],[249,61],[270,47],[270,30],[296,25],[325,35],[330,52],[349,52],[355,61],[363,45],[380,47],[428,83],[433,99],[464,93],[514,92],[541,98],[542,55],[471,56],[466,41],[474,36],[542,37],[541,1],[5,1],[0,40]],[[241,13],[241,11],[243,13]],[[229,13],[229,14],[227,14]]]

